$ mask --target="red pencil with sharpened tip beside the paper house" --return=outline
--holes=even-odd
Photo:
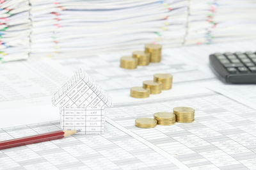
[[[10,139],[8,141],[0,142],[0,150],[12,148],[16,146],[22,146],[26,144],[40,143],[44,141],[51,141],[54,139],[61,139],[68,135],[76,134],[77,130],[60,130],[56,132],[49,132],[46,134],[31,135],[27,137],[21,137],[18,139]]]

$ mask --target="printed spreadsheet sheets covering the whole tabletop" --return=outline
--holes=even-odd
[[[222,93],[221,83],[212,90],[209,84],[217,79],[205,59],[212,52],[253,50],[254,44],[168,49],[163,51],[162,63],[129,71],[118,67],[123,54],[3,65],[0,141],[59,130],[59,111],[49,105],[51,97],[77,68],[84,68],[111,94],[114,107],[106,110],[104,134],[72,135],[0,150],[0,169],[255,169],[256,110],[248,104],[254,100],[237,100],[241,98],[237,88],[229,89],[232,97]],[[22,72],[14,69],[18,67]],[[140,86],[159,72],[173,73],[171,90],[144,99],[129,97],[131,86]],[[136,118],[153,118],[154,112],[177,106],[195,108],[195,121],[149,129],[134,126]],[[36,117],[46,122],[37,123]]]

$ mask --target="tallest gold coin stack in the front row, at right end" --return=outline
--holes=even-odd
[[[174,107],[173,113],[176,121],[180,123],[190,123],[195,120],[195,109],[191,107]]]

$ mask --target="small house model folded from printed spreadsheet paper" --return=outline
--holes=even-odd
[[[60,107],[60,125],[63,130],[80,130],[77,134],[102,134],[104,109],[111,107],[111,98],[79,70],[52,97],[52,104]]]

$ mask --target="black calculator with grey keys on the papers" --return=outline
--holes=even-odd
[[[217,52],[209,59],[212,70],[223,81],[256,84],[256,52]]]

